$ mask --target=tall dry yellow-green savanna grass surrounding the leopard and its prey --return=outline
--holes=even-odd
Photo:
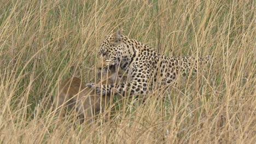
[[[118,27],[166,56],[213,63],[140,100],[115,96],[110,120],[60,121],[56,83],[94,81]],[[255,1],[0,2],[1,143],[254,143]],[[97,79],[97,77],[96,77]]]

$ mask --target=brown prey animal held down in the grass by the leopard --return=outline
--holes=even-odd
[[[100,71],[100,69],[99,69]],[[115,67],[110,68],[110,72],[107,75],[102,76],[100,83],[119,83],[126,81],[127,77],[117,72]],[[98,73],[100,75],[101,73]],[[82,80],[77,77],[72,77],[63,80],[61,85],[56,89],[56,97],[54,104],[61,109],[61,117],[65,116],[65,110],[75,109],[78,112],[78,116],[81,122],[92,122],[94,115],[102,110],[104,106],[110,101],[110,95],[102,95],[100,93],[95,94],[93,88],[86,87]]]

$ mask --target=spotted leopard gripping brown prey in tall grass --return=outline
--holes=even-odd
[[[153,47],[129,38],[118,30],[107,35],[100,43],[97,56],[103,59],[101,71],[107,73],[115,67],[127,73],[127,81],[117,85],[95,85],[87,83],[97,92],[125,95],[146,95],[149,88],[166,86],[175,82],[177,77],[196,73],[197,67],[211,61],[211,56],[167,57]],[[198,65],[198,66],[197,66]]]

